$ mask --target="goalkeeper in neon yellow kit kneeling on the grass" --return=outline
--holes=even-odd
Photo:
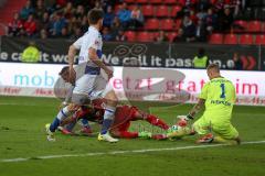
[[[187,134],[202,135],[198,143],[221,142],[240,144],[239,132],[231,124],[233,105],[235,102],[235,88],[233,84],[220,75],[219,66],[208,66],[210,81],[202,88],[199,102],[188,116],[179,116],[182,121],[193,120],[197,112],[205,106],[203,116],[197,120],[191,130],[169,133],[169,138]]]

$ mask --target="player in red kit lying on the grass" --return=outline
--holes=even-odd
[[[76,122],[78,119],[87,119],[88,121],[102,123],[104,114],[104,103],[102,99],[93,101],[92,107],[83,107],[71,119],[65,120],[62,125]],[[131,121],[145,120],[152,125],[156,125],[165,131],[169,130],[169,125],[153,114],[148,114],[140,111],[137,107],[118,106],[115,112],[114,123],[110,128],[110,133],[117,138],[135,139],[135,138],[152,138],[157,140],[166,139],[163,134],[151,134],[150,132],[129,132]],[[71,129],[63,129],[62,132],[68,134]],[[93,130],[93,129],[91,129]]]

